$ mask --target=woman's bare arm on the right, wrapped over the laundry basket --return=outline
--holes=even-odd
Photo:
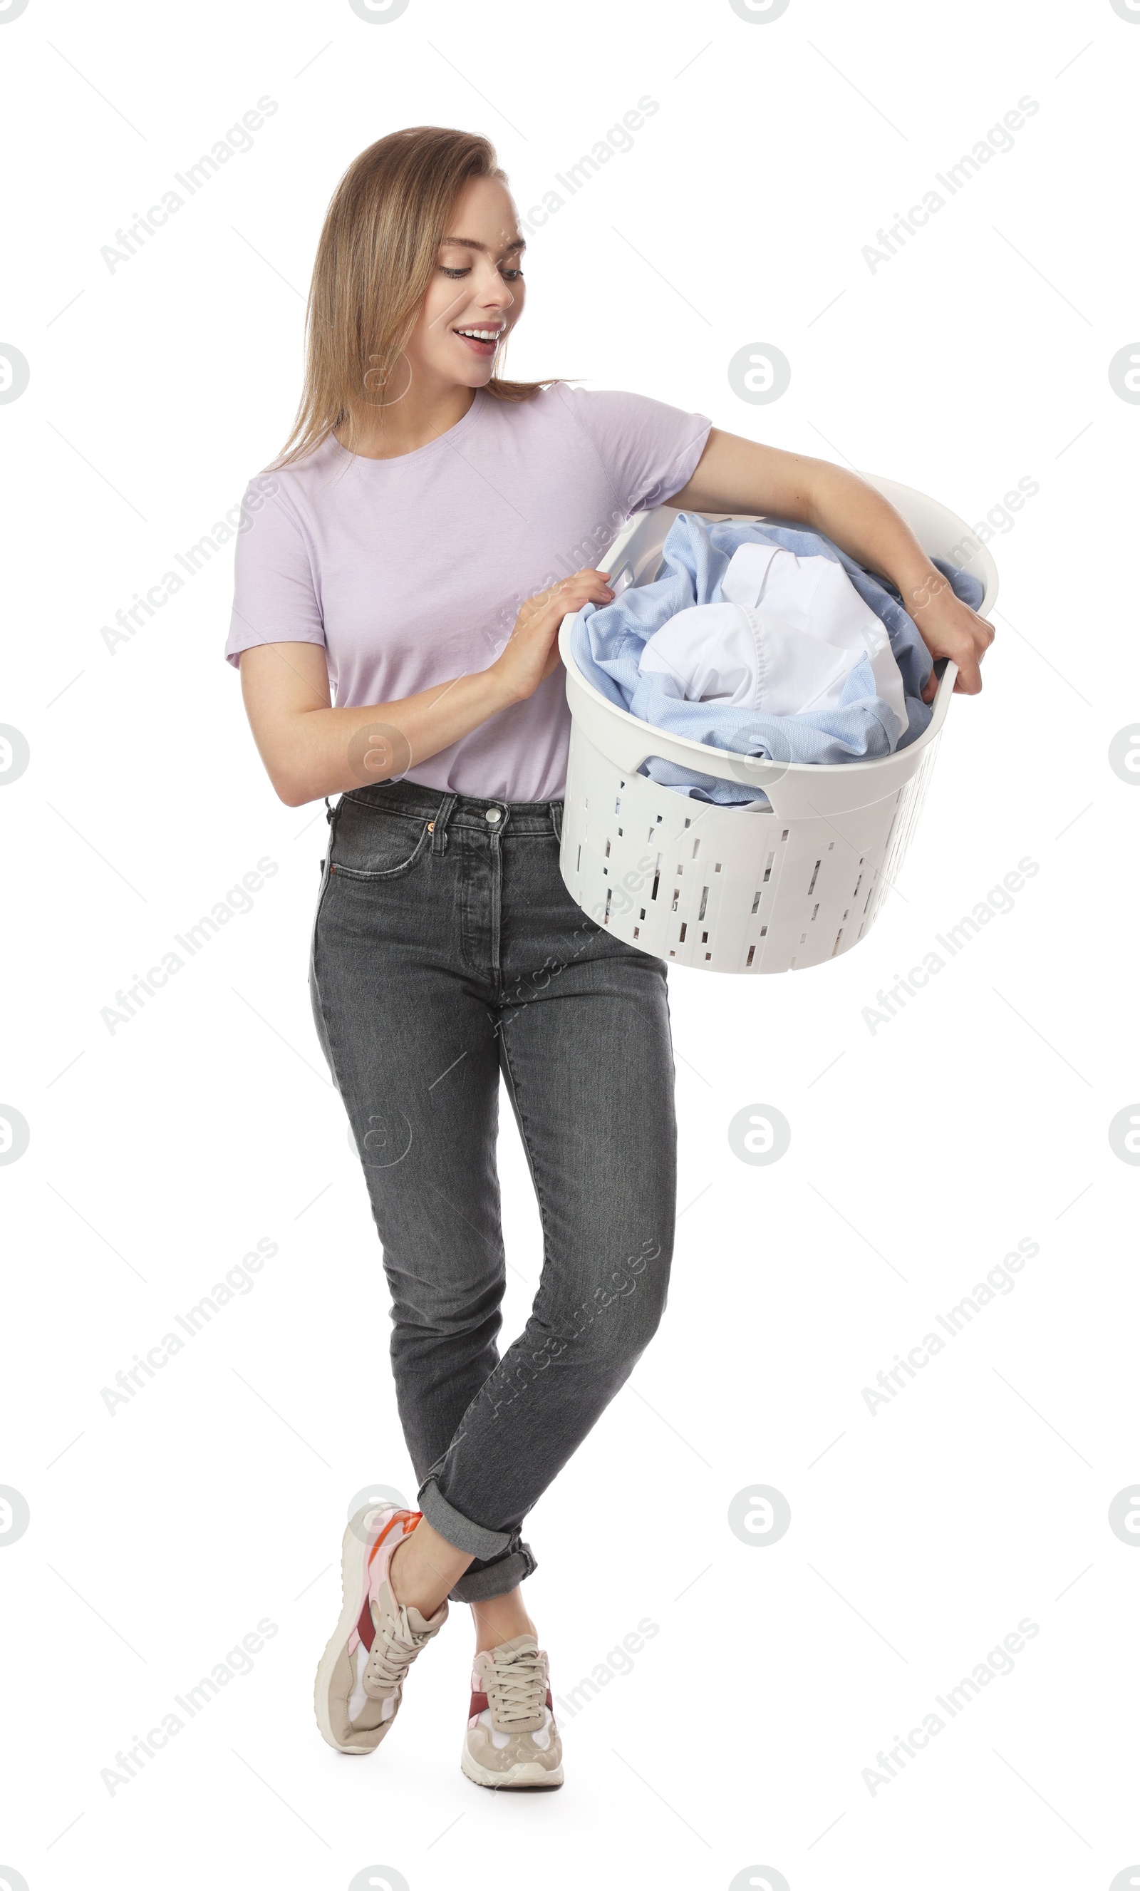
[[[868,571],[898,586],[930,656],[949,656],[959,666],[955,690],[976,696],[981,688],[979,664],[993,643],[993,626],[955,598],[907,522],[858,473],[713,427],[688,486],[667,505],[694,512],[766,512],[822,531]],[[924,702],[932,702],[936,688],[938,677],[930,675]]]

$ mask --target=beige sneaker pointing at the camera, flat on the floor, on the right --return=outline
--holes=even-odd
[[[548,1662],[533,1636],[514,1636],[475,1657],[459,1764],[476,1785],[516,1791],[561,1785]]]

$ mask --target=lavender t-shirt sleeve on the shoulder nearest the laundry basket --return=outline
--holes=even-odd
[[[626,516],[664,505],[692,478],[713,425],[707,414],[686,414],[643,393],[565,384],[558,393],[597,452]]]

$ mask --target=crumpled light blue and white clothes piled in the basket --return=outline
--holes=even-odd
[[[977,609],[981,582],[940,558],[934,565]],[[862,762],[906,747],[930,722],[921,696],[930,652],[900,594],[802,526],[707,526],[681,512],[660,577],[603,609],[586,605],[571,649],[620,709],[735,755]],[[745,781],[662,756],[641,773],[694,800],[768,806]]]

